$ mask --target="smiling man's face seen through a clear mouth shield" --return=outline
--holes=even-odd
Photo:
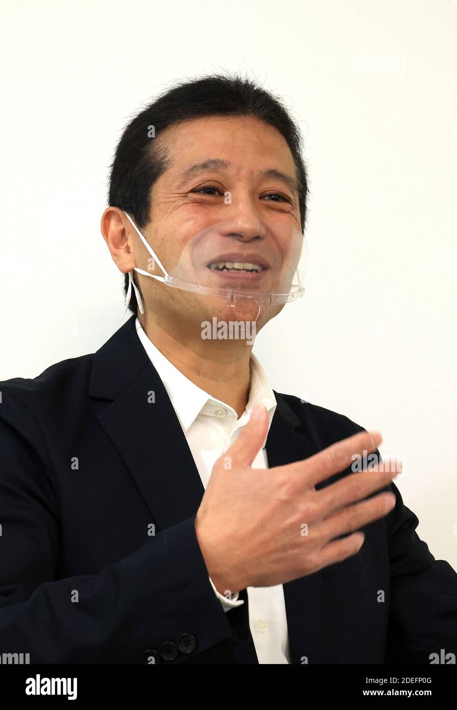
[[[302,231],[295,164],[281,133],[249,116],[210,116],[175,124],[154,140],[167,148],[171,167],[152,187],[142,234],[167,272],[212,289],[283,290]],[[149,253],[140,239],[132,252],[146,270]],[[162,272],[155,265],[150,273]],[[253,299],[237,298],[234,311],[222,297],[139,278],[147,312],[167,329],[173,323],[200,333],[213,317],[256,320],[259,311]],[[262,310],[257,331],[282,307]]]

